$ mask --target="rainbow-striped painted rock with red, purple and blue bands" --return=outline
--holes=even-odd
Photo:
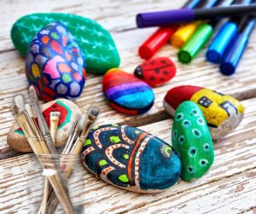
[[[154,93],[148,84],[117,68],[104,75],[102,90],[109,105],[120,113],[145,113],[154,104]]]

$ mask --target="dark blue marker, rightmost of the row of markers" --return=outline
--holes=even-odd
[[[242,26],[241,31],[238,33],[236,37],[236,41],[232,43],[224,55],[224,60],[220,64],[220,72],[224,75],[232,75],[236,72],[236,67],[239,64],[241,56],[243,55],[248,40],[253,32],[253,28],[255,26],[256,20],[255,18],[248,18],[247,23]]]

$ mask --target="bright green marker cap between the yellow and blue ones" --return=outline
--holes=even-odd
[[[207,23],[203,23],[197,27],[196,31],[189,38],[189,41],[179,50],[177,57],[183,63],[189,63],[198,54],[198,52],[207,43],[212,36],[213,27]]]

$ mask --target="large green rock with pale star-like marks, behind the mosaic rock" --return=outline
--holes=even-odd
[[[105,73],[113,67],[119,67],[119,53],[110,33],[96,21],[76,14],[28,14],[17,20],[11,30],[15,48],[26,55],[32,38],[51,22],[61,22],[79,43],[86,56],[89,72]]]

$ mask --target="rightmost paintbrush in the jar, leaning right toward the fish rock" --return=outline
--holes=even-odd
[[[65,159],[65,162],[67,162],[67,164],[65,164],[65,170],[63,171],[63,174],[66,178],[69,178],[72,175],[73,166],[75,164],[75,157],[81,153],[84,145],[84,141],[87,138],[93,124],[95,123],[98,113],[99,111],[95,107],[90,108],[89,114],[85,119],[81,135],[78,137],[77,141],[74,143],[73,147],[69,150],[68,153],[66,149],[66,153],[68,155],[71,155],[71,156],[68,156],[69,159]],[[83,117],[82,119],[80,119],[80,121],[84,121]],[[77,125],[82,127],[81,122],[78,122]],[[76,135],[75,131],[73,131],[72,135]],[[49,197],[49,202],[48,202],[49,210],[47,213],[49,214],[54,213],[57,205],[58,205],[58,199],[55,197],[55,194],[53,193]]]

